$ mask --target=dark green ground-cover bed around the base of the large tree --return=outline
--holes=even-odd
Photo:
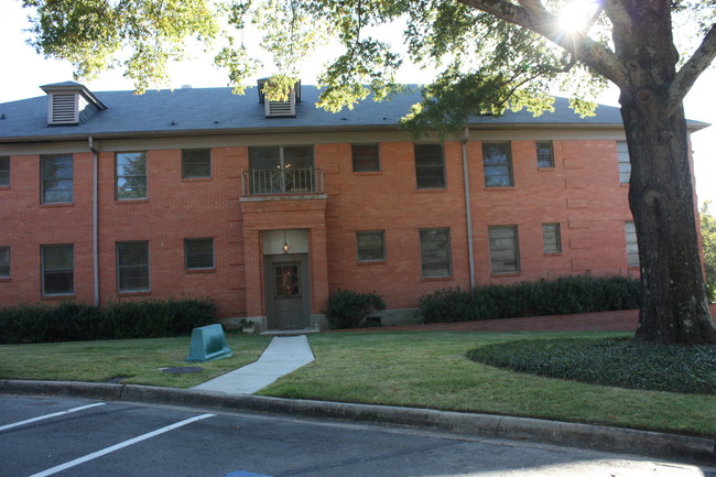
[[[716,394],[716,346],[628,338],[499,343],[468,351],[479,362],[530,375],[619,388]]]

